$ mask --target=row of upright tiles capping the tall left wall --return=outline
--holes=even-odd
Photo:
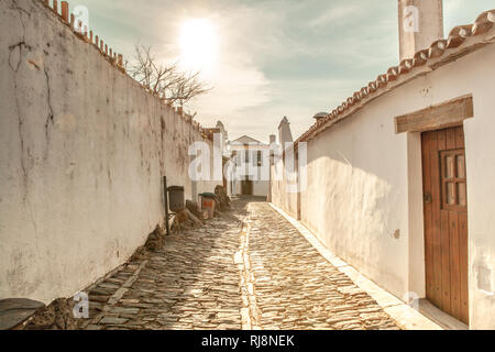
[[[92,31],[89,31],[89,29],[85,29],[84,32],[80,32],[77,29],[77,23],[75,23],[75,15],[74,13],[69,12],[69,3],[68,1],[61,1],[61,9],[58,9],[58,1],[59,0],[38,0],[42,2],[48,10],[51,10],[53,13],[57,15],[57,18],[64,23],[65,25],[70,26],[73,30],[73,33],[85,43],[94,45],[100,54],[116,68],[118,68],[121,73],[127,75],[129,74],[125,70],[125,67],[123,65],[123,56],[122,54],[118,54],[114,52],[111,47],[109,47],[107,44],[105,44],[103,40],[101,40],[98,35],[94,35]],[[52,3],[52,4],[51,4]],[[88,32],[89,31],[89,32]],[[132,78],[133,79],[133,78]],[[135,81],[135,79],[133,79]],[[146,88],[142,85],[140,85],[142,89],[144,89],[147,94],[150,91],[146,90]],[[205,133],[205,129],[201,127],[201,124],[194,119],[191,114],[188,114],[184,112],[184,109],[180,107],[174,108],[172,105],[165,103],[161,101],[163,105],[167,106],[168,108],[173,109],[174,112],[176,112],[182,119],[184,119],[186,122],[190,123],[191,127],[197,130],[201,136],[207,140],[208,136]]]

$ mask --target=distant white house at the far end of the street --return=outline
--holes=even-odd
[[[253,138],[243,135],[228,143],[231,152],[231,163],[238,173],[231,174],[228,182],[228,193],[239,196],[268,195],[270,175],[264,175],[262,168],[267,167],[270,145]]]

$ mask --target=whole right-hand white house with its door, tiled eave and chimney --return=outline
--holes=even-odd
[[[400,63],[295,142],[307,183],[271,199],[398,298],[495,329],[495,10],[441,38],[441,8],[399,1]]]

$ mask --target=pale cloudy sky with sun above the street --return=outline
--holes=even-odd
[[[267,141],[287,116],[295,138],[398,62],[397,0],[72,0],[90,29],[131,57],[153,45],[182,58],[213,88],[187,108],[205,127],[221,120],[235,139]],[[443,0],[446,35],[495,8]],[[195,58],[191,58],[195,57]]]

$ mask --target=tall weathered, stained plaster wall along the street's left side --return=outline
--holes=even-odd
[[[1,1],[0,33],[0,299],[50,302],[163,223],[163,175],[190,197],[202,138],[41,1]]]

